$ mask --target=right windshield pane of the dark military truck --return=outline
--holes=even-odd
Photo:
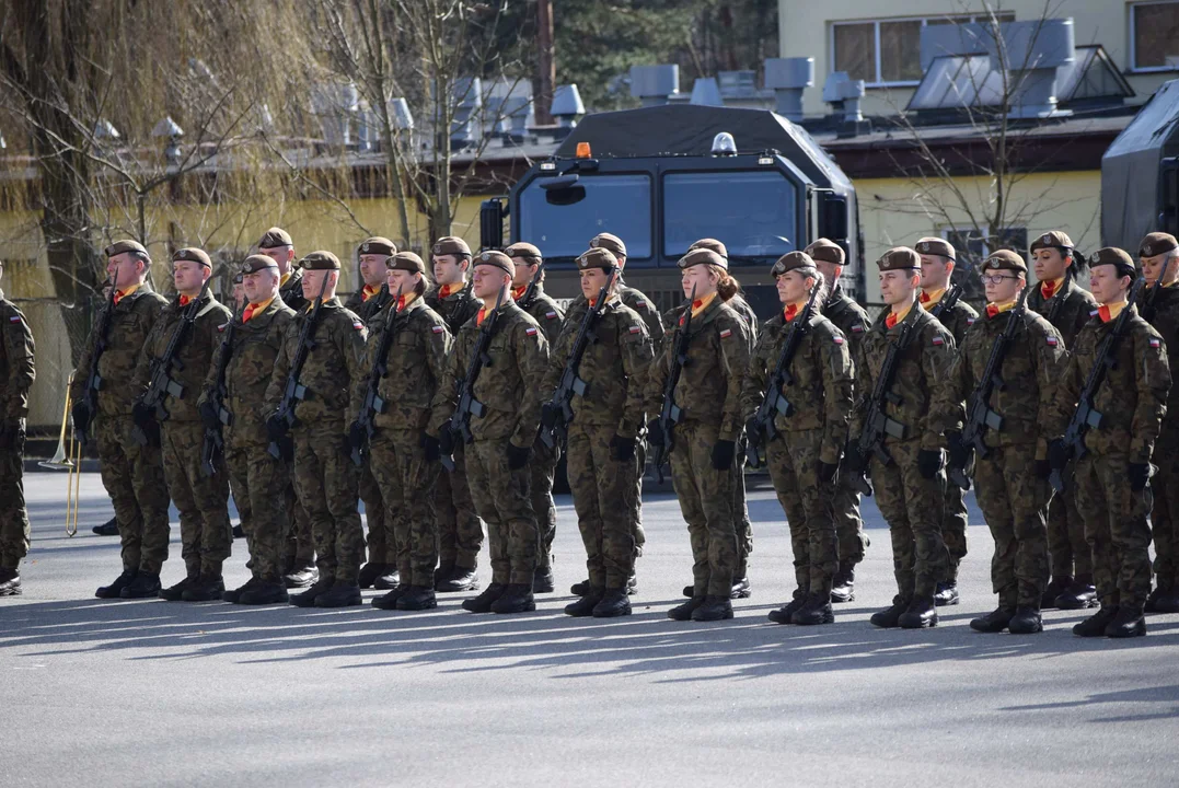
[[[796,187],[780,172],[668,173],[663,191],[666,257],[683,257],[700,238],[722,241],[732,263],[798,249]]]

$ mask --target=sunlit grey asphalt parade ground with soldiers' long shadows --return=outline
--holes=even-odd
[[[1173,786],[1179,615],[1131,641],[1080,640],[1086,614],[1034,636],[980,635],[995,607],[992,539],[970,499],[962,603],[931,630],[877,630],[895,585],[888,529],[836,623],[780,627],[790,541],[770,490],[750,494],[753,596],[736,618],[678,623],[691,578],[672,495],[646,496],[634,615],[561,614],[585,576],[558,499],[555,594],[534,614],[387,612],[116,602],[111,516],[84,474],[78,536],[65,476],[29,474],[25,594],[0,598],[0,786]],[[179,527],[163,580],[180,580]],[[226,583],[243,583],[235,543]],[[486,567],[486,549],[482,558]],[[486,569],[481,569],[485,582]]]

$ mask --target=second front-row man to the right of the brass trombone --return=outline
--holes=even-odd
[[[180,512],[180,557],[184,558],[185,577],[159,592],[162,598],[171,602],[219,600],[225,590],[222,564],[233,545],[225,468],[223,463],[216,463],[212,476],[205,476],[202,470],[205,430],[197,411],[197,398],[209,363],[220,344],[220,330],[233,316],[212,292],[205,292],[204,299],[196,305],[196,323],[187,329],[182,343],[172,344],[177,330],[193,309],[192,302],[200,297],[204,283],[212,272],[212,260],[203,250],[184,247],[172,253],[172,282],[177,297],[160,311],[136,369],[134,385],[141,398],[152,383],[152,376],[158,373],[169,346],[172,346],[171,364],[163,370],[169,378],[163,384],[166,390],[154,392],[163,397],[160,405],[167,417],[156,423],[158,419],[150,408],[144,410],[140,400],[134,405],[139,410],[140,439],[154,442],[158,436],[167,492]],[[173,384],[179,390],[173,390]],[[152,423],[151,430],[146,430],[144,421]]]

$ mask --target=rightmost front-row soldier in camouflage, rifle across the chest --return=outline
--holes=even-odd
[[[1146,634],[1142,608],[1151,592],[1151,452],[1167,410],[1171,370],[1159,332],[1127,304],[1137,271],[1120,249],[1104,247],[1089,257],[1089,290],[1098,313],[1076,336],[1056,398],[1065,418],[1074,415],[1095,364],[1105,379],[1092,392],[1100,423],[1085,433],[1085,453],[1074,474],[1076,508],[1085,517],[1085,538],[1093,554],[1093,580],[1101,608],[1073,627],[1080,637],[1135,637]],[[1126,331],[1113,357],[1101,347],[1118,316],[1129,310]],[[1049,448],[1054,469],[1068,459],[1062,442]]]

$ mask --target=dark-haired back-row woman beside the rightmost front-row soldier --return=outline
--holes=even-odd
[[[1098,307],[1093,296],[1076,284],[1072,239],[1059,230],[1036,238],[1032,241],[1032,267],[1040,286],[1028,293],[1028,309],[1052,323],[1071,352],[1081,327]],[[1085,542],[1085,521],[1076,511],[1072,485],[1048,504],[1048,556],[1052,581],[1043,592],[1043,607],[1095,607],[1093,556]]]

